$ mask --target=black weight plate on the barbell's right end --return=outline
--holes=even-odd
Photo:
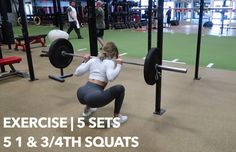
[[[144,62],[144,79],[148,85],[154,85],[156,83],[156,64],[159,63],[160,57],[158,56],[158,49],[151,48]]]

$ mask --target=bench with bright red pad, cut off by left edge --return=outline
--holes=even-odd
[[[6,57],[6,58],[0,59],[0,66],[9,65],[11,68],[10,72],[0,74],[0,79],[6,78],[9,76],[13,76],[13,75],[20,76],[23,78],[27,77],[26,73],[17,71],[13,66],[13,64],[20,63],[21,61],[22,61],[22,58],[16,57],[16,56],[11,56],[11,57]]]

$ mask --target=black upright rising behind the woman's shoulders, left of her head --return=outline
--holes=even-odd
[[[88,25],[89,25],[89,44],[90,54],[98,55],[97,35],[96,35],[96,15],[95,15],[95,0],[87,1],[88,5]]]

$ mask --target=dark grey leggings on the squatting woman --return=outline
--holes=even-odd
[[[115,114],[120,113],[124,96],[125,88],[122,85],[115,85],[103,90],[101,86],[87,82],[77,91],[79,102],[92,108],[103,107],[115,99]]]

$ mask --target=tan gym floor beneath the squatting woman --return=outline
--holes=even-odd
[[[46,50],[46,48],[43,48]],[[124,65],[120,76],[109,86],[123,84],[126,88],[122,113],[129,116],[127,123],[118,129],[4,129],[3,117],[81,117],[83,106],[77,101],[76,91],[87,81],[87,76],[72,77],[65,83],[48,79],[58,75],[48,58],[39,57],[42,48],[32,49],[35,75],[39,80],[12,78],[0,81],[0,134],[1,152],[235,152],[236,149],[236,72],[200,68],[201,80],[193,80],[194,67],[187,67],[187,74],[163,72],[162,108],[166,113],[154,115],[155,86],[144,82],[142,67]],[[5,51],[4,55],[17,55],[23,62],[15,67],[27,71],[25,54]],[[127,60],[127,59],[126,59]],[[140,60],[139,62],[143,62]],[[81,63],[74,59],[66,68],[70,73]],[[108,86],[108,87],[109,87]],[[112,116],[113,104],[93,115]],[[16,142],[11,148],[3,148],[3,137],[22,137],[22,148]],[[34,136],[108,136],[139,137],[137,148],[27,148],[26,139]],[[83,145],[83,143],[82,143]]]

